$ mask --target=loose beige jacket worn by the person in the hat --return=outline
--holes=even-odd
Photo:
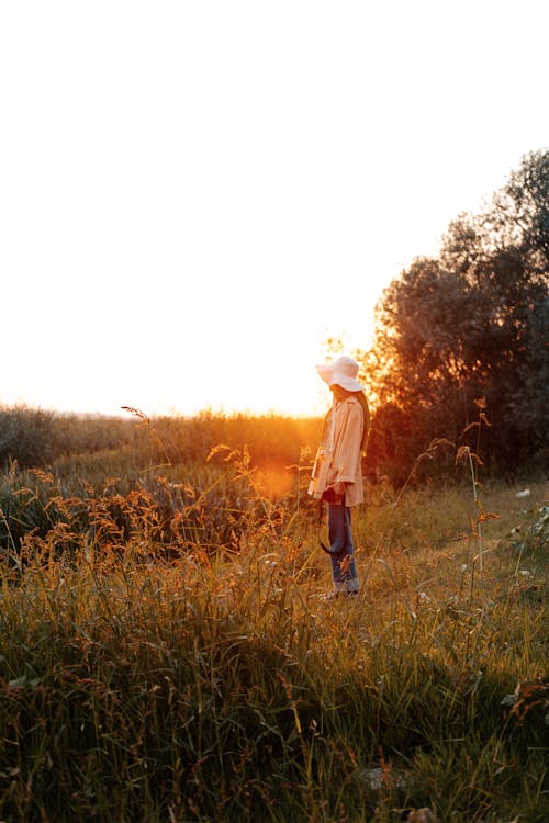
[[[309,494],[317,500],[328,486],[345,483],[345,505],[358,506],[363,501],[360,451],[363,418],[362,406],[356,397],[334,402],[324,422],[309,485]]]

